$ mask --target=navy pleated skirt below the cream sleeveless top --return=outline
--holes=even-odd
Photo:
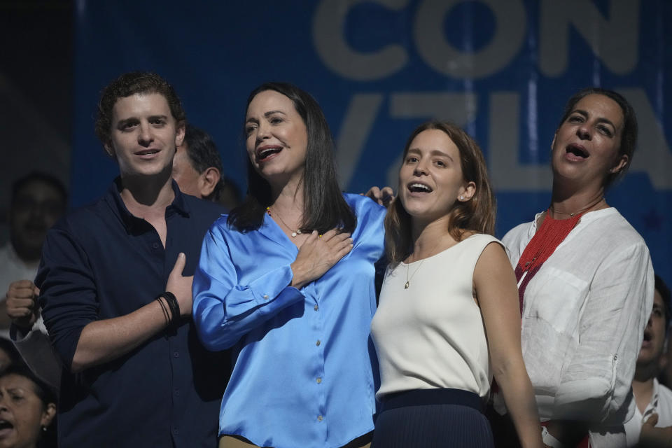
[[[490,423],[478,395],[426,389],[384,398],[372,448],[493,448]]]

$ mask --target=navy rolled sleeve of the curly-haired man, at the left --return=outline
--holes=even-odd
[[[83,328],[98,318],[99,303],[87,255],[66,230],[48,232],[36,285],[52,346],[70,368]]]

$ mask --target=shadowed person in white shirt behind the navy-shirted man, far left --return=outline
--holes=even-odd
[[[8,335],[7,292],[22,280],[30,297],[47,230],[66,211],[68,194],[63,183],[50,174],[31,172],[12,186],[8,223],[10,239],[0,248],[0,332]]]

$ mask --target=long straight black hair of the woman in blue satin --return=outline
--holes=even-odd
[[[295,85],[264,83],[250,93],[246,110],[254,97],[265,90],[274,90],[292,100],[294,109],[306,125],[308,147],[302,179],[304,206],[301,230],[323,233],[332,228],[342,228],[344,232],[353,232],[356,217],[338,187],[334,141],[319,104],[308,92]],[[271,186],[256,172],[249,159],[247,185],[247,197],[228,217],[229,225],[240,232],[260,228],[266,207],[272,202]]]

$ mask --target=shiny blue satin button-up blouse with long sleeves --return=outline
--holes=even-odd
[[[373,429],[377,363],[369,332],[385,209],[344,197],[357,216],[353,249],[300,290],[288,286],[298,249],[269,216],[246,233],[223,216],[207,233],[194,276],[194,321],[208,349],[233,346],[235,357],[220,435],[260,447],[327,448]]]

